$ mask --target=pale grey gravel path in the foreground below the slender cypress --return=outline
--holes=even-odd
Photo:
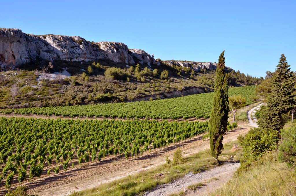
[[[171,183],[158,186],[157,188],[147,192],[145,196],[169,195],[172,193],[186,191],[189,185],[196,184],[198,182],[205,183],[207,180],[212,179],[213,177],[218,178],[218,176],[220,177],[223,174],[231,176],[231,173],[236,171],[239,166],[240,163],[226,163],[223,166],[215,167],[211,170],[201,173],[193,174],[192,172],[189,172],[183,178],[179,178],[175,181],[172,181]],[[191,195],[196,195],[195,193],[200,195],[201,190],[192,191]]]

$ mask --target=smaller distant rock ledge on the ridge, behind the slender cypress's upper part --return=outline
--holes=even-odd
[[[194,69],[195,71],[200,71],[201,69],[207,69],[207,70],[216,70],[217,69],[217,63],[212,63],[212,62],[195,62],[195,61],[163,61],[163,63],[173,66],[173,65],[178,65],[181,67],[187,67]],[[232,68],[225,67],[227,71],[233,70]]]

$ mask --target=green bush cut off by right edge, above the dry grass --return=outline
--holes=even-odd
[[[279,146],[279,161],[289,167],[296,167],[296,126],[281,131],[282,143]]]

